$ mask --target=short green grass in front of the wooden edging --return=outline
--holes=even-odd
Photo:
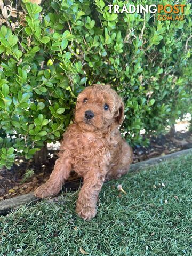
[[[0,218],[0,255],[192,255],[191,192],[188,154],[105,184],[89,222],[75,213],[77,193],[23,206]]]

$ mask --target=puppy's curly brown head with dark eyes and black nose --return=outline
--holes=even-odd
[[[110,85],[95,84],[78,95],[75,122],[83,130],[113,130],[122,124],[123,117],[123,101]]]

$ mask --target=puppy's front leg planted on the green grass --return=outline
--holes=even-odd
[[[79,192],[76,212],[84,220],[91,220],[97,214],[97,201],[105,176],[99,171],[91,170],[86,174]]]

